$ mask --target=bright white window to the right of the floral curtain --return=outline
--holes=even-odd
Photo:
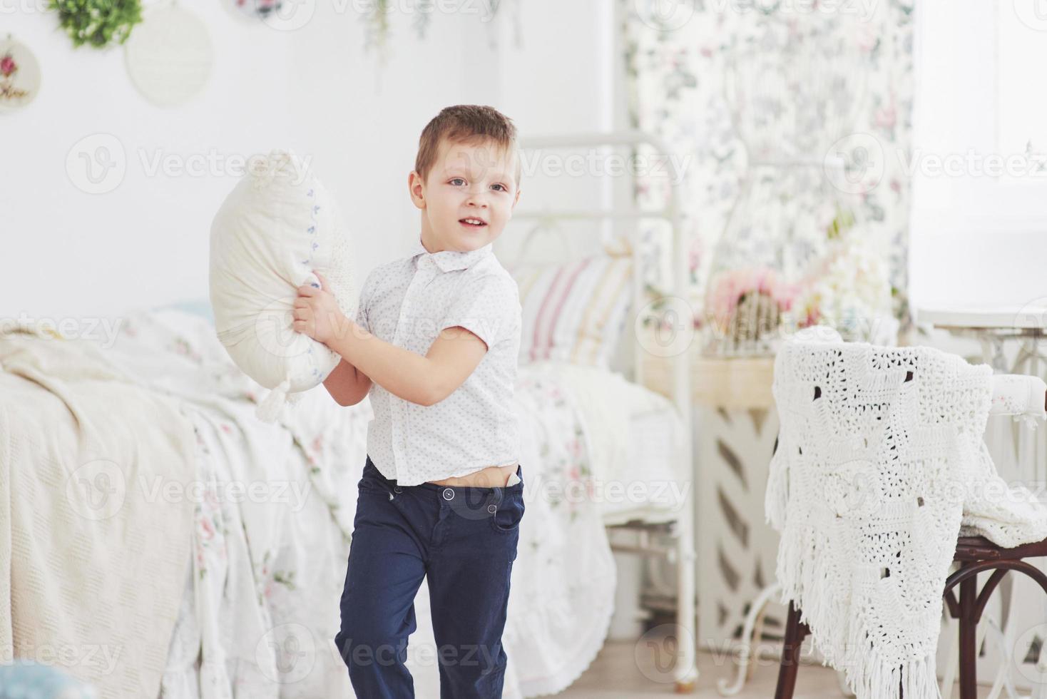
[[[914,53],[914,306],[1047,295],[1047,0],[917,2]]]

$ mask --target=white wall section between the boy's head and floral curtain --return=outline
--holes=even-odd
[[[506,4],[509,12],[499,17],[498,27],[498,104],[519,127],[525,144],[529,138],[545,135],[623,128],[624,60],[617,41],[621,31],[616,16],[619,3],[528,0]],[[589,172],[580,176],[553,174],[556,167],[563,170],[565,158],[572,156],[587,158],[588,151],[527,155],[530,159],[525,160],[518,210],[610,206],[611,191],[623,178]],[[626,195],[630,191],[628,187],[621,189]],[[517,222],[507,229],[502,245],[505,257],[517,253],[532,227],[533,222]],[[598,232],[593,224],[563,225],[538,238],[527,253],[531,258],[561,258],[564,250],[578,254],[596,244]],[[566,246],[565,241],[570,241]]]

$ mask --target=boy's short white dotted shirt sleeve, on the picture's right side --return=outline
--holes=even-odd
[[[497,274],[467,278],[458,289],[440,330],[461,325],[487,348],[509,336],[519,313],[519,292],[511,277]]]

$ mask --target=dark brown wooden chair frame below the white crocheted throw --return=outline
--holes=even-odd
[[[949,613],[959,621],[960,699],[978,699],[976,666],[978,651],[975,646],[975,629],[989,596],[1007,571],[1017,570],[1025,573],[1047,592],[1047,574],[1024,560],[1039,556],[1047,556],[1047,540],[1013,548],[1002,548],[984,537],[957,539],[954,560],[960,564],[960,568],[945,580],[942,596],[949,607]],[[979,592],[977,576],[983,570],[993,570],[993,574]],[[957,585],[960,588],[959,599],[953,592],[953,588]],[[775,699],[793,698],[799,670],[800,646],[808,633],[810,629],[800,622],[800,610],[789,603],[788,617],[785,622],[785,645],[782,648],[782,659],[778,669]]]

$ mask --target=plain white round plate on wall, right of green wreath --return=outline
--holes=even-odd
[[[142,23],[125,45],[131,82],[159,107],[192,99],[210,76],[215,49],[207,26],[175,4],[146,8]]]

